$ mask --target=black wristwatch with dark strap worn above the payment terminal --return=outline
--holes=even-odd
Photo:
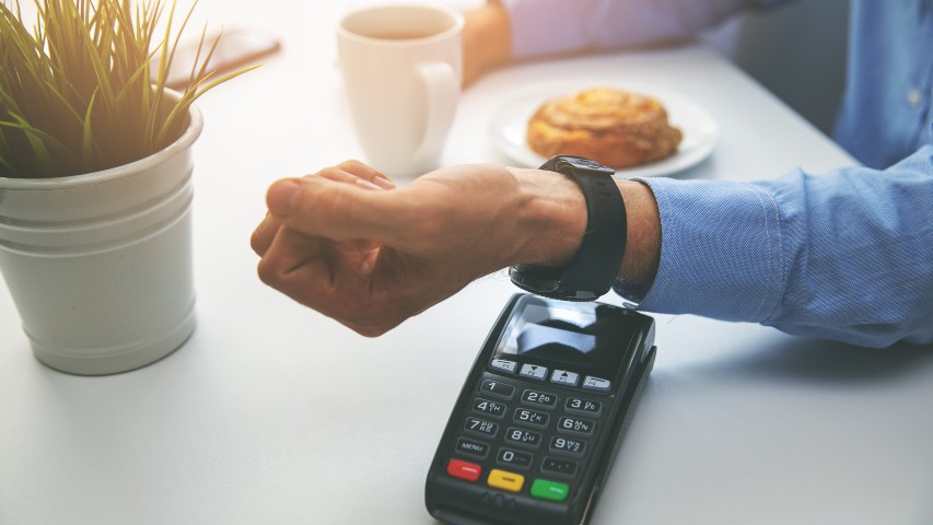
[[[626,253],[626,203],[611,167],[582,156],[556,155],[539,170],[572,177],[586,199],[586,232],[563,267],[515,265],[512,282],[522,290],[563,301],[595,301],[616,281]]]

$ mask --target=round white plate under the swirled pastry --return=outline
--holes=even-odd
[[[616,170],[625,177],[653,177],[669,175],[691,167],[712,153],[720,131],[713,117],[689,98],[650,84],[634,82],[564,81],[538,85],[508,98],[489,122],[492,142],[502,153],[526,167],[538,167],[546,159],[532,151],[525,135],[528,119],[546,101],[569,95],[597,85],[618,88],[653,96],[664,104],[670,124],[680,128],[684,139],[677,152],[667,159],[642,166]]]

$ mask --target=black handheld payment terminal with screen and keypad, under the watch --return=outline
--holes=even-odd
[[[425,504],[466,524],[587,523],[648,374],[654,322],[516,294],[467,376]]]

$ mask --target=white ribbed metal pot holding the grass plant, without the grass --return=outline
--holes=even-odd
[[[195,329],[189,126],[162,151],[60,178],[0,177],[0,271],[35,357],[62,372],[125,372]]]

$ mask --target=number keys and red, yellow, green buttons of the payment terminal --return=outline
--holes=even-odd
[[[598,435],[605,416],[599,393],[608,381],[494,361],[464,417],[464,436],[451,451],[456,467],[448,475],[535,499],[565,500]],[[537,386],[548,383],[563,388]]]

